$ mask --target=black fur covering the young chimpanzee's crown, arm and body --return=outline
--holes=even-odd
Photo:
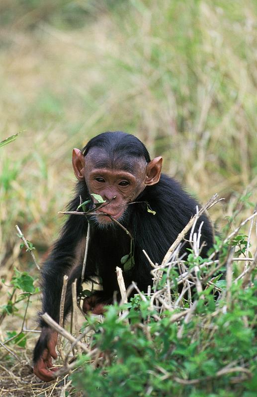
[[[83,149],[86,155],[91,147],[102,147],[114,157],[124,159],[129,157],[143,157],[150,161],[149,153],[143,143],[133,135],[124,132],[106,132],[91,139]],[[89,198],[85,182],[79,182],[77,193],[69,205],[69,210],[74,211],[83,200]],[[195,214],[197,202],[186,194],[180,185],[162,174],[158,184],[148,186],[136,199],[147,201],[156,211],[153,215],[147,211],[145,203],[136,203],[128,206],[122,224],[134,237],[135,266],[132,271],[124,273],[126,286],[134,280],[139,289],[147,292],[148,285],[152,285],[151,266],[143,254],[144,249],[154,263],[161,264],[167,250],[170,248],[177,235]],[[205,256],[213,244],[213,232],[209,220],[202,215],[198,224],[204,221],[201,230],[201,240],[206,245],[201,253]],[[89,220],[90,221],[90,220]],[[91,222],[90,222],[91,223]],[[197,229],[197,228],[196,228]],[[70,215],[63,227],[61,237],[55,243],[53,251],[42,270],[43,305],[42,313],[47,312],[55,321],[59,321],[60,296],[62,291],[63,276],[69,275],[66,296],[66,316],[72,305],[71,284],[78,279],[78,288],[81,285],[82,263],[74,264],[75,252],[81,240],[85,239],[87,221],[83,216]],[[188,246],[187,246],[188,247]],[[181,249],[186,252],[186,245]],[[116,266],[121,266],[121,258],[130,252],[130,239],[117,225],[101,229],[92,222],[91,237],[86,263],[86,278],[98,275],[102,278],[103,291],[98,292],[99,301],[111,303],[114,291],[118,291]],[[74,265],[77,265],[74,268]],[[72,272],[71,269],[73,268]],[[47,325],[41,320],[40,325]],[[40,337],[35,350],[36,362],[47,344],[48,333]]]

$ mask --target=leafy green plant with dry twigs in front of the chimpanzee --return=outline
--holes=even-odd
[[[246,242],[243,234],[217,237],[210,252],[220,253],[215,261],[195,256],[193,249],[186,261],[173,256],[172,266],[158,270],[150,296],[139,293],[127,304],[106,307],[101,323],[87,318],[85,327],[96,331],[91,348],[100,358],[93,365],[91,357],[80,358],[74,385],[85,397],[254,397],[254,265],[249,281],[244,272],[237,279],[235,272],[232,281],[220,272],[232,254],[234,263],[242,258]]]

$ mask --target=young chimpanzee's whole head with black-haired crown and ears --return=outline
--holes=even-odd
[[[150,159],[145,145],[125,132],[103,132],[86,144],[83,151],[73,150],[73,168],[79,181],[86,181],[90,194],[109,202],[100,209],[121,219],[129,202],[134,201],[146,186],[159,182],[162,157]],[[99,224],[111,218],[97,215]]]

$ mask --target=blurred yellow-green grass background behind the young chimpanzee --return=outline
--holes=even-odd
[[[51,245],[72,149],[99,132],[136,134],[201,202],[225,197],[213,220],[256,201],[256,111],[255,0],[1,0],[0,140],[22,131],[0,149],[1,274],[16,223],[39,256]]]

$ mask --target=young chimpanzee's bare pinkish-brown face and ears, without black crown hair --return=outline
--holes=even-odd
[[[86,157],[79,149],[73,150],[73,169],[77,179],[86,181],[90,194],[95,193],[110,201],[99,212],[115,219],[122,217],[127,204],[134,201],[146,186],[159,182],[162,162],[162,157],[150,163],[142,157],[137,162],[127,158],[125,162],[119,159],[113,163],[103,149],[92,148]],[[112,223],[112,219],[104,215],[95,216],[95,220],[99,224]]]

